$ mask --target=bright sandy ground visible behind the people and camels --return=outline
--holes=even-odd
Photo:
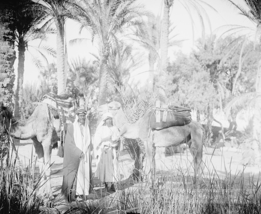
[[[27,167],[29,163],[31,162],[32,154],[35,154],[35,149],[32,147],[32,140],[21,140],[19,143],[15,143],[16,148],[18,149],[18,156],[20,159],[21,164],[23,167]],[[10,148],[12,149],[12,147]],[[225,176],[226,172],[231,172],[231,175],[236,175],[237,173],[242,173],[244,171],[244,183],[247,187],[249,185],[249,182],[247,180],[254,180],[254,182],[257,182],[259,178],[260,173],[260,167],[258,164],[254,166],[246,166],[240,165],[240,162],[242,160],[242,151],[239,149],[234,148],[226,148],[223,147],[218,153],[219,156],[215,155],[207,155],[203,154],[203,160],[206,163],[206,167],[204,169],[204,174],[207,174],[207,171],[214,172],[216,171],[217,175],[222,178]],[[63,164],[63,158],[58,157],[57,150],[52,150],[52,156],[51,156],[51,162],[53,163],[51,166],[51,185],[52,190],[54,192],[55,198],[58,200],[59,198],[62,200],[61,196],[61,184],[62,184],[62,164]],[[192,155],[189,152],[184,153],[175,153],[171,156],[166,156],[165,158],[160,158],[156,160],[156,172],[157,174],[161,174],[164,171],[172,172],[172,173],[179,173],[179,170],[182,170],[182,172],[186,175],[188,172],[192,172],[192,168],[188,167],[191,165],[191,162],[193,160]],[[133,169],[133,160],[131,159],[131,156],[128,154],[128,151],[122,151],[121,157],[119,159],[120,164],[120,174],[121,174],[121,180],[127,180],[129,178],[129,175],[131,174],[131,171]],[[92,170],[95,171],[96,167],[96,160],[93,159],[92,162]],[[36,164],[37,172],[39,170],[39,163]],[[238,179],[238,178],[237,178]],[[101,181],[98,179],[94,180],[95,190],[94,194],[92,195],[93,199],[104,197],[105,193],[101,190],[104,189],[104,185],[101,185]],[[97,193],[97,194],[96,194]],[[109,194],[112,194],[113,192],[109,191]]]

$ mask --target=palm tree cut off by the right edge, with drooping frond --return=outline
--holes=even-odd
[[[240,14],[247,17],[256,25],[256,37],[260,38],[260,23],[261,23],[261,4],[259,1],[255,0],[244,0],[247,4],[248,10],[245,10],[241,6],[231,2],[236,8],[240,10]],[[242,103],[244,101],[244,103]],[[252,93],[242,94],[231,100],[228,104],[227,109],[230,110],[233,107],[245,105],[245,103],[253,106],[254,118],[253,118],[253,138],[255,141],[259,142],[259,151],[261,151],[261,58],[257,69],[256,75],[256,91]],[[260,156],[260,154],[259,154]],[[260,158],[260,157],[259,157]],[[261,158],[260,158],[261,159]]]

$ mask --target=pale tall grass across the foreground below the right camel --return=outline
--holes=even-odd
[[[261,213],[261,184],[254,176],[246,182],[244,170],[231,174],[229,168],[222,175],[208,170],[196,179],[188,171],[193,169],[185,172],[180,165],[158,174],[152,184],[124,184],[113,197],[92,204],[89,213]],[[260,172],[255,176],[259,180]]]

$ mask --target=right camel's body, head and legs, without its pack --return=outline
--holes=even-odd
[[[97,111],[99,115],[105,112],[111,112],[113,114],[113,122],[119,129],[120,136],[131,139],[139,138],[144,142],[147,154],[145,175],[147,175],[148,180],[151,180],[151,169],[155,167],[153,157],[155,147],[178,146],[182,143],[186,143],[189,146],[189,150],[193,155],[195,176],[197,173],[199,173],[199,175],[202,173],[204,169],[202,162],[202,145],[205,131],[198,122],[192,120],[184,126],[173,126],[156,130],[150,129],[149,127],[149,113],[139,118],[135,124],[128,124],[128,120],[119,102],[113,101],[109,104],[101,105]]]

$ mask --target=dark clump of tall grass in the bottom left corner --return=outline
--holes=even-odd
[[[26,169],[20,166],[13,147],[10,152],[10,136],[6,147],[7,154],[5,157],[1,154],[0,162],[0,213],[39,213],[38,185],[33,184],[34,173],[31,173],[30,164]]]

